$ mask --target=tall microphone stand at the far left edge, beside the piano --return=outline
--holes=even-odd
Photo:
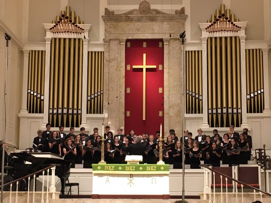
[[[11,36],[5,33],[7,57],[6,57],[6,78],[5,78],[5,95],[4,95],[4,128],[3,128],[3,151],[2,151],[2,168],[1,168],[1,203],[3,203],[4,192],[4,166],[5,166],[5,134],[6,134],[6,96],[7,96],[7,73],[8,73],[8,41],[11,40]]]

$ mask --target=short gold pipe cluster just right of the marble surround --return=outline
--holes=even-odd
[[[202,51],[186,51],[186,113],[202,113]]]

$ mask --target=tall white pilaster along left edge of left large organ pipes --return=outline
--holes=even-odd
[[[45,37],[44,111],[42,124],[43,129],[46,128],[46,124],[48,123],[51,39],[51,37]]]

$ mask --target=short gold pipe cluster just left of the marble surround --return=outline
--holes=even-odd
[[[104,52],[88,52],[87,113],[103,113]]]

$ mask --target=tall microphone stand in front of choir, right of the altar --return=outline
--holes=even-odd
[[[185,38],[185,31],[183,31],[180,35],[182,38],[182,75],[184,76],[184,38]],[[182,111],[184,111],[184,77],[182,78]],[[182,113],[182,160],[184,160],[184,134],[183,134],[183,127],[184,127],[184,113]],[[182,161],[182,201],[185,200],[185,163]]]

